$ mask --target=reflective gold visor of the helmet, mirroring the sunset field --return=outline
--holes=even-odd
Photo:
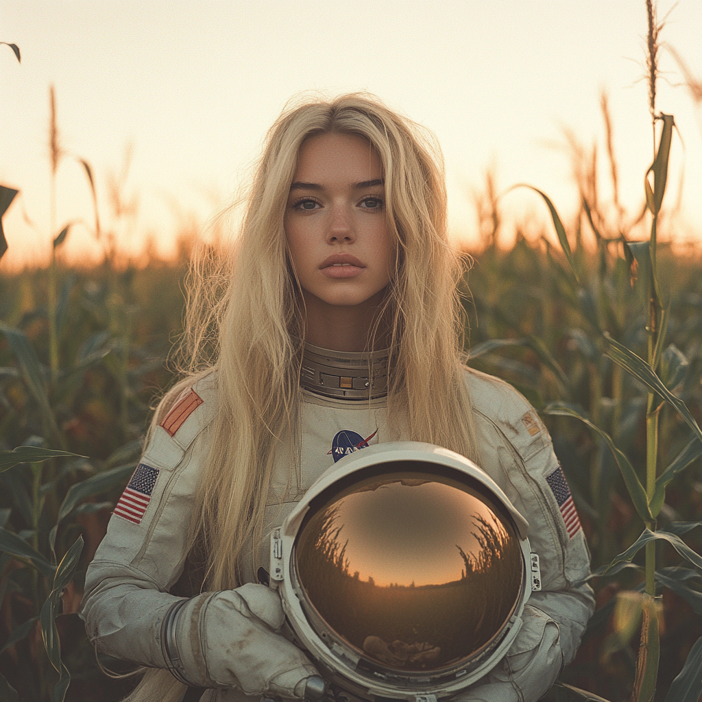
[[[476,479],[425,462],[349,478],[312,501],[296,538],[293,566],[312,627],[328,644],[408,673],[479,655],[522,595],[508,512]]]

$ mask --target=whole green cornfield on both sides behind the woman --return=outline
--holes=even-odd
[[[655,86],[660,27],[648,7]],[[602,107],[609,124],[604,99]],[[543,416],[592,553],[597,611],[552,701],[702,694],[701,260],[658,241],[674,120],[656,112],[655,89],[649,107],[656,146],[644,213],[608,215],[592,164],[581,169],[581,211],[566,225],[534,192],[557,245],[517,232],[505,250],[501,199],[489,182],[479,208],[486,235],[463,290],[469,363],[515,385]],[[55,176],[58,146],[52,154]],[[1,188],[0,216],[15,194]],[[96,202],[95,236],[109,241],[97,212]],[[642,225],[648,233],[637,241]],[[76,612],[154,401],[172,381],[166,359],[181,328],[189,251],[137,269],[106,245],[105,262],[82,270],[62,263],[68,236],[52,222],[48,271],[0,278],[7,700],[110,702],[135,684],[124,677],[133,666],[95,654]],[[5,249],[0,230],[0,256]]]

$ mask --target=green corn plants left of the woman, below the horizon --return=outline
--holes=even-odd
[[[0,279],[0,698],[108,702],[128,692],[98,668],[75,612],[170,380],[184,272],[182,260],[58,268],[55,382],[46,274]]]

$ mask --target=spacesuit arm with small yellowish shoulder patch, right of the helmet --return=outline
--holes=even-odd
[[[541,560],[540,592],[524,606],[505,658],[456,702],[536,702],[575,657],[594,610],[590,553],[548,431],[507,383],[470,371],[482,468],[529,522]]]

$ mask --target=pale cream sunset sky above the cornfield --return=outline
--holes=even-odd
[[[661,0],[659,18],[670,8],[661,39],[702,79],[702,2]],[[22,63],[0,46],[0,184],[22,198],[4,218],[10,249],[0,270],[48,256],[50,84],[63,145],[92,164],[106,223],[107,177],[133,145],[125,192],[138,196],[138,220],[119,232],[133,251],[151,233],[168,253],[179,218],[204,222],[301,91],[369,90],[432,129],[446,158],[451,229],[470,240],[470,194],[491,164],[501,189],[530,183],[564,216],[574,211],[569,160],[555,145],[563,128],[588,147],[598,140],[605,172],[606,88],[621,199],[635,210],[651,161],[645,33],[644,0],[1,0],[0,40],[20,46]],[[675,115],[684,142],[673,143],[666,203],[684,168],[676,236],[702,241],[702,105],[676,86],[682,76],[665,48],[661,69],[657,107]],[[504,202],[517,218],[545,216],[536,195]],[[85,178],[67,159],[57,228],[92,218]],[[86,227],[75,227],[67,253],[91,252]]]

